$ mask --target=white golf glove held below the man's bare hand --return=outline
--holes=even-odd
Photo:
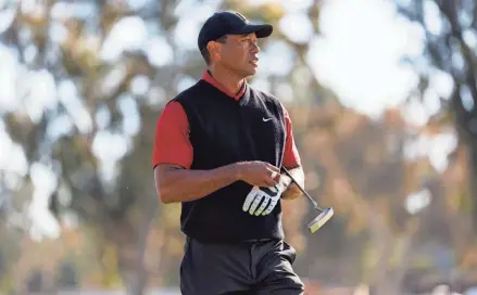
[[[268,215],[277,205],[284,190],[281,182],[272,188],[253,187],[243,202],[243,211],[255,216]]]

